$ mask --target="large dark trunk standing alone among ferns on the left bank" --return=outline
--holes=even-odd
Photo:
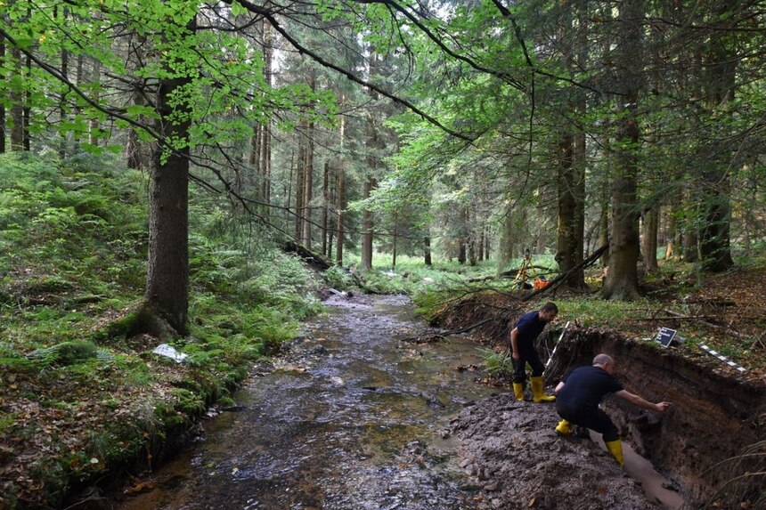
[[[193,32],[196,20],[192,18],[186,28]],[[172,104],[177,101],[174,96],[190,83],[191,78],[185,76],[159,80],[156,129],[163,140],[188,140],[188,112]],[[189,149],[184,145],[169,155],[163,154],[165,150],[158,143],[152,158],[144,297],[184,335],[189,310]]]

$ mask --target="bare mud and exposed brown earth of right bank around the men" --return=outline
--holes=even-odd
[[[502,350],[513,321],[531,307],[514,301],[486,303],[474,296],[445,309],[440,325],[456,329],[485,321],[473,333],[483,344]],[[538,339],[539,352],[552,351],[563,324],[557,327],[558,331]],[[689,356],[681,348],[663,349],[614,329],[571,325],[546,371],[547,385],[555,385],[574,367],[589,365],[599,352],[615,358],[615,375],[626,389],[648,401],[672,401],[673,407],[664,414],[614,397],[607,398],[605,405],[623,441],[672,482],[686,507],[766,507],[762,371],[751,370],[743,376],[720,362]],[[500,395],[465,409],[453,422],[452,433],[463,441],[462,462],[469,472],[488,481],[495,490],[493,498],[503,501],[503,507],[643,508],[647,504],[642,495],[637,501],[643,503],[633,500],[636,482],[626,478],[595,443],[559,439],[553,433],[557,421],[553,406]]]

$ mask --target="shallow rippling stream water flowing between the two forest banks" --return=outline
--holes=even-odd
[[[475,345],[403,342],[420,328],[406,297],[336,297],[289,361],[206,422],[206,441],[155,474],[127,509],[469,509],[476,487],[443,433],[491,390]],[[301,356],[300,352],[306,355]]]

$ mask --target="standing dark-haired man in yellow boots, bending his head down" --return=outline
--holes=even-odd
[[[556,397],[542,391],[542,372],[545,365],[534,349],[534,340],[542,333],[548,323],[558,315],[558,306],[546,303],[539,311],[528,312],[517,321],[516,327],[510,331],[510,349],[513,359],[513,393],[517,401],[524,400],[526,383],[526,364],[532,367],[532,401],[534,403],[555,401]]]

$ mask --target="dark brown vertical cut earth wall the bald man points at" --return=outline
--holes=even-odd
[[[548,383],[590,364],[599,352],[613,356],[615,376],[626,390],[648,401],[672,402],[665,413],[638,409],[615,397],[607,398],[605,407],[623,438],[678,482],[688,502],[740,498],[752,503],[758,498],[763,477],[752,474],[762,471],[763,449],[755,456],[742,453],[764,441],[762,380],[748,379],[722,363],[715,370],[700,366],[678,348],[625,339],[611,330],[575,329],[558,345]]]

